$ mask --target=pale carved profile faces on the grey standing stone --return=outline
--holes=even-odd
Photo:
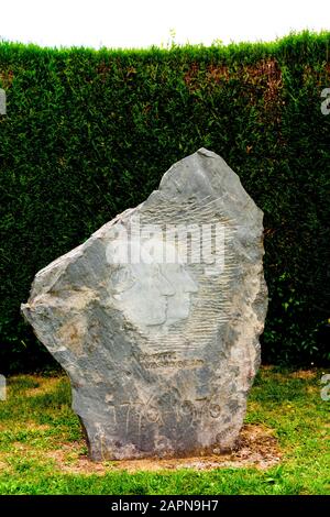
[[[164,248],[164,242],[153,241],[153,245]],[[160,263],[158,254],[143,244],[141,262],[117,264],[108,289],[114,307],[144,330],[165,329],[187,318],[191,295],[198,292],[182,262]]]

